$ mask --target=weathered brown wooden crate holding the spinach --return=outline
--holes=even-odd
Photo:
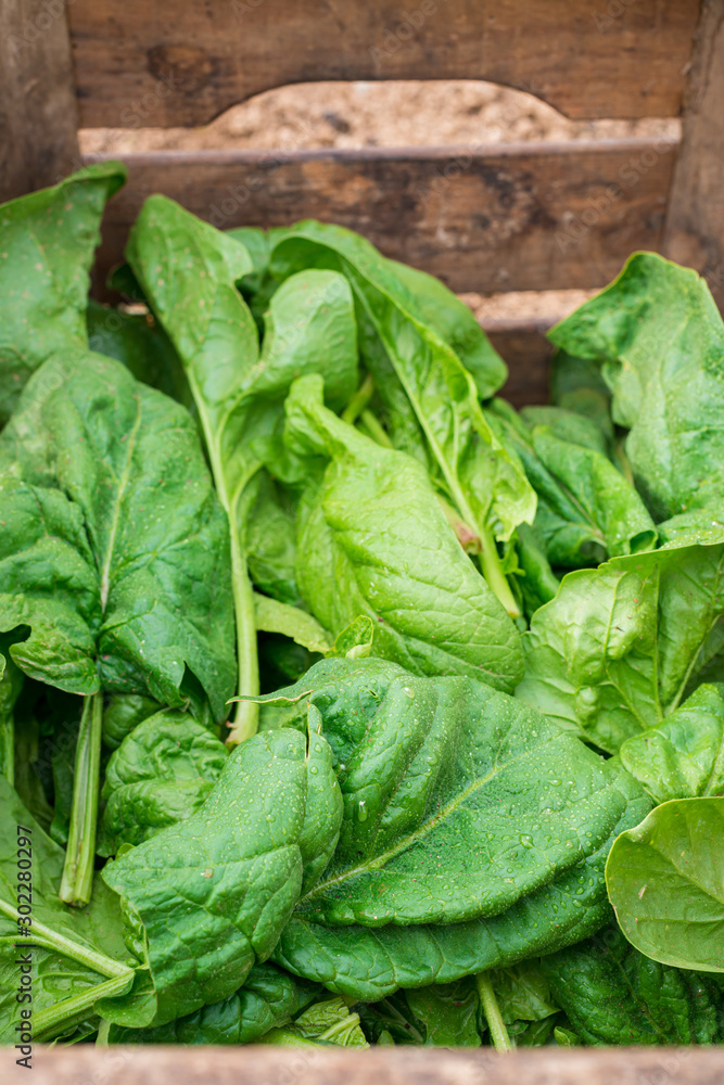
[[[724,0],[0,0],[0,200],[80,166],[79,126],[201,125],[285,84],[420,78],[505,84],[576,119],[683,115],[683,138],[123,155],[99,269],[161,191],[223,227],[342,222],[459,292],[600,286],[644,247],[697,267],[724,303]],[[493,331],[510,394],[543,400],[539,324]],[[724,1057],[695,1049],[300,1058],[78,1047],[38,1069],[107,1085],[724,1080]]]

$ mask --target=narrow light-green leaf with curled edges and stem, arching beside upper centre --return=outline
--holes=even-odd
[[[303,267],[347,277],[363,356],[394,421],[394,443],[425,462],[435,486],[474,529],[484,575],[517,615],[495,539],[509,539],[519,523],[533,519],[535,496],[486,421],[472,375],[417,316],[409,290],[364,238],[338,226],[300,222],[279,237],[269,266],[281,279]]]

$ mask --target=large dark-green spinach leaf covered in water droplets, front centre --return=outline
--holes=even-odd
[[[490,687],[382,660],[322,661],[266,700],[307,699],[344,819],[278,963],[376,999],[513,963],[605,921],[610,841],[649,805],[617,763]]]

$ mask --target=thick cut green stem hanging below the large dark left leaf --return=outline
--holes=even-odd
[[[85,699],[80,716],[68,843],[59,893],[61,901],[77,907],[88,904],[93,888],[102,725],[103,694],[99,692]]]

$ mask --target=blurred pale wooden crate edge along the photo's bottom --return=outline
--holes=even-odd
[[[12,1085],[25,1081],[25,1070],[10,1070]],[[34,1085],[721,1085],[724,1050],[543,1047],[501,1056],[484,1048],[78,1045],[36,1049],[34,1071]]]

